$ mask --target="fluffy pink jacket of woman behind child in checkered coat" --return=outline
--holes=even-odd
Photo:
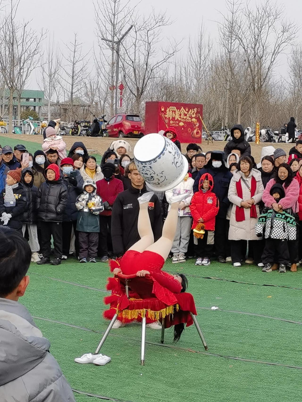
[[[263,191],[262,201],[265,203],[266,207],[271,207],[271,205],[276,202],[275,199],[269,194],[271,187],[275,183],[276,180],[272,178],[271,180],[269,180]],[[283,209],[292,208],[294,212],[298,212],[299,211],[298,197],[300,192],[300,186],[298,180],[294,178],[292,180],[292,183],[290,183],[290,185],[287,188],[285,188],[284,185],[283,188],[285,191],[285,197],[279,200],[279,204],[282,205]]]

